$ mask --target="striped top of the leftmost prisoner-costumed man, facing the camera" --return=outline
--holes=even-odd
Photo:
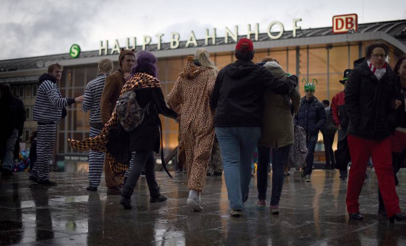
[[[62,109],[68,106],[68,98],[63,98],[58,85],[51,80],[45,80],[38,87],[32,116],[38,122],[59,123]]]

